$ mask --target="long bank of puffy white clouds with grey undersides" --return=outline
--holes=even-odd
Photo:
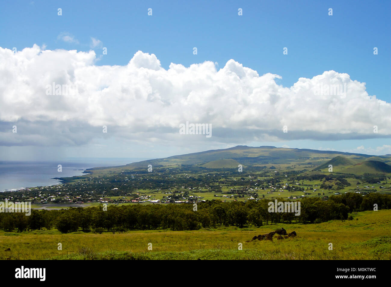
[[[92,50],[0,47],[0,145],[72,146],[106,136],[181,145],[391,136],[391,104],[348,74],[326,71],[284,87],[280,75],[258,75],[233,59],[219,70],[212,61],[165,70],[141,51],[126,66],[96,61]],[[52,83],[76,86],[77,95],[48,95]],[[179,135],[187,121],[211,124],[212,137]]]

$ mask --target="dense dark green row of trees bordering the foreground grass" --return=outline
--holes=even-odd
[[[279,199],[278,201],[284,201]],[[256,227],[276,223],[316,223],[332,219],[348,219],[354,211],[391,208],[391,195],[370,193],[361,196],[346,193],[322,201],[316,197],[300,201],[300,215],[292,212],[269,212],[268,199],[225,203],[218,200],[197,204],[134,204],[123,206],[96,206],[66,210],[32,210],[25,213],[0,213],[0,228],[4,231],[29,231],[57,228],[62,233],[78,230],[195,230],[217,226]],[[99,232],[100,233],[100,232]]]

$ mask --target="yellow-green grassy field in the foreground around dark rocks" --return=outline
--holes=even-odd
[[[0,259],[391,259],[391,210],[353,213],[353,221],[222,227],[194,231],[93,234],[0,232]],[[246,242],[284,227],[297,237]],[[62,250],[57,250],[61,242]],[[152,250],[148,250],[148,244]],[[242,243],[242,250],[238,244]],[[329,250],[329,243],[333,250]],[[4,251],[10,248],[11,251]]]

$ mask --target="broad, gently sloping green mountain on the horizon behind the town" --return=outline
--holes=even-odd
[[[348,167],[364,161],[369,158],[384,157],[384,161],[391,158],[388,156],[374,156],[368,154],[358,154],[350,152],[339,151],[320,151],[314,149],[296,149],[283,148],[273,146],[248,147],[246,145],[237,145],[227,149],[215,149],[202,152],[194,152],[189,154],[182,154],[176,156],[169,156],[167,158],[157,158],[152,160],[144,160],[134,163],[129,163],[120,166],[122,169],[144,169],[148,165],[153,167],[181,167],[181,166],[199,166],[203,168],[232,168],[237,167],[237,164],[251,166],[251,165],[267,165],[267,164],[291,164],[298,162],[306,165],[312,164],[313,167],[319,164],[322,169],[330,161],[336,157],[334,164],[342,164]],[[326,162],[326,163],[325,163]],[[315,164],[315,166],[314,166]],[[317,169],[320,169],[320,168]],[[118,167],[119,168],[119,167]],[[93,168],[90,170],[107,169],[105,167]],[[313,169],[313,168],[311,168]]]

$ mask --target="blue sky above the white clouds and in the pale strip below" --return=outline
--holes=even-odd
[[[62,16],[57,15],[58,8],[62,9]],[[152,16],[147,15],[148,8],[152,8]],[[242,8],[242,16],[238,15],[238,8]],[[329,8],[333,9],[332,16],[328,15]],[[390,8],[389,1],[3,2],[0,47],[22,50],[37,44],[48,50],[94,50],[99,59],[94,63],[96,66],[125,66],[141,50],[155,54],[165,70],[170,63],[189,67],[204,61],[216,63],[219,70],[234,59],[259,75],[282,76],[275,81],[288,88],[300,77],[311,79],[334,70],[348,74],[353,81],[366,83],[369,95],[389,103]],[[69,41],[63,41],[63,36],[69,36]],[[91,44],[91,37],[100,41],[96,47]],[[107,48],[104,56],[103,47]],[[193,47],[197,47],[197,55],[193,54]],[[288,48],[287,55],[283,55],[283,47]],[[378,48],[377,55],[373,54],[374,47]],[[364,153],[376,153],[377,147],[389,144],[389,136],[330,139],[246,140],[242,144],[352,152],[363,146]],[[211,147],[228,147],[230,143],[225,144]],[[7,151],[4,154],[10,151],[14,154],[16,150],[27,154],[31,150],[28,145],[5,144],[2,149]],[[140,146],[134,144],[135,149]],[[52,148],[37,149],[45,154]],[[64,153],[67,156],[78,156],[84,149],[90,150],[88,156],[92,157],[99,152],[88,144],[64,149],[68,150]],[[178,150],[154,143],[154,149],[143,152],[142,156],[163,157],[200,149],[204,150],[203,145]],[[391,151],[382,149],[378,153]],[[118,155],[118,152],[108,154]],[[127,157],[137,156],[128,154]]]

